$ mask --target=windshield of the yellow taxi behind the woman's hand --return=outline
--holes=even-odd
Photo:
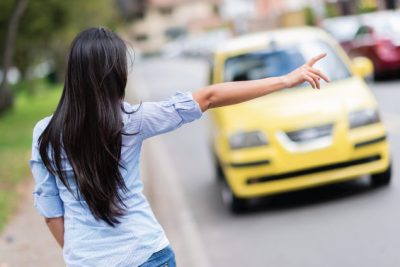
[[[315,67],[332,81],[350,77],[349,69],[330,45],[322,41],[310,41],[229,58],[225,62],[224,80],[245,81],[281,76],[305,64],[319,53],[327,53],[328,56]]]

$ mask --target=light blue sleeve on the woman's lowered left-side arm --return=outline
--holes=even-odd
[[[56,218],[64,215],[64,203],[59,195],[56,178],[46,169],[40,157],[37,140],[42,130],[38,124],[33,131],[32,157],[29,161],[35,180],[34,205],[42,216]]]

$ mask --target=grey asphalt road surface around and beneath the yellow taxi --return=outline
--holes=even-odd
[[[207,66],[197,61],[143,62],[134,71],[145,83],[142,100],[195,90],[208,79]],[[371,87],[388,127],[394,166],[400,166],[400,81]],[[212,266],[400,266],[398,168],[387,188],[371,189],[364,178],[268,198],[233,215],[214,178],[207,114],[157,138],[168,150],[165,160],[182,183]]]

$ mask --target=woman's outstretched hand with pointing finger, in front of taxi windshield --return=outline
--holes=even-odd
[[[313,57],[303,66],[295,69],[291,73],[284,76],[287,88],[295,87],[296,85],[308,82],[312,88],[320,89],[320,80],[323,79],[326,82],[330,82],[329,78],[321,71],[313,68],[314,64],[322,58],[326,57],[326,54],[320,54]]]

